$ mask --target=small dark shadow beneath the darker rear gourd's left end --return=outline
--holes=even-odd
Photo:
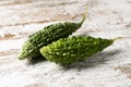
[[[27,61],[28,61],[28,64],[37,64],[37,63],[46,61],[46,59],[43,55],[39,55],[35,58],[29,58]]]

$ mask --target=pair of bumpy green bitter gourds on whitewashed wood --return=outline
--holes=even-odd
[[[69,65],[83,61],[110,46],[114,39],[94,38],[91,36],[68,38],[69,35],[82,26],[85,17],[86,12],[80,23],[64,22],[52,24],[28,36],[19,54],[19,59],[43,55],[51,62]]]

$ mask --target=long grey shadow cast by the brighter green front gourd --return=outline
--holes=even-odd
[[[112,57],[115,57],[116,54],[119,54],[120,50],[114,50],[114,51],[103,51],[99,52],[91,58],[88,58],[85,61],[81,61],[81,62],[76,62],[73,64],[70,64],[68,66],[64,66],[64,70],[70,70],[70,69],[78,69],[78,70],[84,70],[87,67],[95,67],[99,64],[106,64],[107,61],[114,60]]]

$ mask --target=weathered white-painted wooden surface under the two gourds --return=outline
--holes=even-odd
[[[73,35],[122,37],[68,69],[19,60],[27,36],[58,22],[79,22]],[[131,0],[0,0],[0,87],[131,87]]]

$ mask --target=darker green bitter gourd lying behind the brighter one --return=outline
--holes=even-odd
[[[82,26],[83,22],[85,21],[85,16],[86,13],[80,23],[64,22],[52,24],[31,35],[27,41],[25,41],[23,45],[23,48],[19,54],[19,59],[22,60],[25,58],[35,58],[40,55],[39,49],[43,46],[47,46],[60,38],[67,38]]]

